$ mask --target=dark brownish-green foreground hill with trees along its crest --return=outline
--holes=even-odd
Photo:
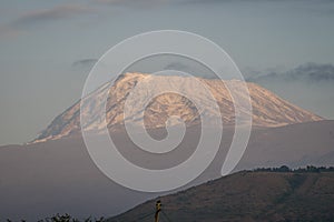
[[[156,200],[163,202],[163,222],[334,221],[334,172],[242,171],[148,201],[108,221],[153,221]]]

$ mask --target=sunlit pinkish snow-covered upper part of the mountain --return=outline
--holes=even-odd
[[[101,94],[109,90],[109,98],[107,100],[106,107],[106,119],[107,125],[110,130],[117,129],[117,127],[124,124],[124,105],[127,100],[129,100],[129,93],[140,81],[146,81],[153,78],[157,78],[151,74],[143,73],[126,73],[118,78],[109,90],[109,85],[105,84],[97,91],[95,91],[90,98],[85,103],[81,112],[91,113],[95,119],[89,123],[88,129],[100,130],[104,127],[101,118],[97,114],[98,107],[101,103]],[[178,85],[184,89],[185,92],[190,93],[193,97],[196,97],[198,101],[206,104],[208,103],[208,98],[204,97],[200,93],[196,93],[194,85],[188,81],[186,77],[159,77],[159,83],[154,87],[159,88],[159,85]],[[220,113],[215,113],[210,107],[206,107],[205,112],[208,112],[213,115],[222,115],[224,124],[234,124],[234,103],[232,97],[229,95],[228,90],[222,81],[213,79],[202,79],[198,80],[203,83],[206,83],[210,90],[213,97],[216,99]],[[237,80],[226,81],[229,85],[238,89],[242,82]],[[253,125],[258,127],[277,127],[286,125],[292,123],[299,122],[310,122],[322,120],[322,118],[307,112],[296,105],[291,104],[289,102],[278,98],[271,91],[255,84],[248,83],[249,94],[252,98],[253,105]],[[244,92],[239,92],[244,93]],[[140,91],[140,95],[145,97],[146,92]],[[242,97],[246,97],[242,94]],[[137,101],[129,101],[131,104],[136,104]],[[249,110],[243,110],[243,112],[249,112]],[[145,110],[145,124],[148,129],[156,129],[165,127],[165,122],[170,115],[180,117],[186,125],[198,124],[199,113],[190,100],[175,93],[165,93],[153,99]],[[136,119],[136,117],[131,117]],[[36,142],[45,141],[48,139],[59,139],[63,137],[69,137],[72,134],[78,134],[80,132],[80,101],[73,104],[71,108],[66,110],[63,113],[58,115],[50,125],[41,132],[37,138]]]

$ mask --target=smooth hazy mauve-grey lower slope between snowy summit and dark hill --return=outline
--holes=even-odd
[[[233,135],[233,129],[225,130],[214,162],[186,188],[220,178],[225,150]],[[119,151],[134,164],[163,169],[176,163],[175,160],[187,158],[189,150],[197,144],[193,139],[197,132],[190,130],[189,133],[190,140],[181,142],[180,152],[166,157],[167,160],[140,152],[124,132],[117,131],[112,135],[121,148]],[[283,164],[291,168],[334,165],[334,121],[253,129],[246,152],[235,170]],[[109,218],[163,195],[131,191],[109,180],[94,164],[80,137],[0,147],[0,221],[7,218],[38,221],[55,213]]]

